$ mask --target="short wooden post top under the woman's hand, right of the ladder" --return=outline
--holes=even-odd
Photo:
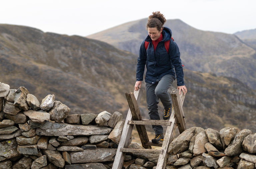
[[[180,127],[178,128],[180,133],[182,133],[187,129],[187,124],[186,124],[186,120],[185,120],[185,116],[182,108],[185,94],[181,92],[181,95],[179,95],[179,90],[173,89],[171,92],[171,97],[172,97],[174,112],[177,117],[177,123],[180,124]]]

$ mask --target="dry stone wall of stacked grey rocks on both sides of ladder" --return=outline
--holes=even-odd
[[[123,115],[72,114],[53,94],[41,103],[21,86],[0,83],[1,169],[111,169]],[[130,148],[143,148],[137,143]],[[169,145],[167,169],[255,168],[256,134],[191,127]],[[127,153],[123,168],[156,168],[158,154]]]

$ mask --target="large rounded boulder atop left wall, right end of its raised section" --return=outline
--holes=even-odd
[[[67,117],[70,108],[60,101],[54,101],[52,109],[49,111],[50,119],[60,123],[64,118]]]

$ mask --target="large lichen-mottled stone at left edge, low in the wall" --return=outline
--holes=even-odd
[[[18,143],[15,138],[10,140],[5,140],[0,142],[0,156],[3,157],[3,161],[5,159],[10,159],[13,157],[18,157],[20,154],[17,151]]]

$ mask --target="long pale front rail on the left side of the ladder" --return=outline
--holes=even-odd
[[[137,103],[139,105],[143,90],[142,89],[139,89],[138,91],[134,90],[133,93],[134,93],[134,96],[137,99]],[[133,129],[133,125],[128,124],[129,120],[132,120],[132,114],[131,114],[130,109],[128,110],[126,120],[124,123],[124,128],[122,131],[122,135],[121,135],[121,138],[120,138],[120,141],[118,144],[115,160],[114,160],[113,167],[112,167],[113,169],[122,169],[122,166],[123,166],[125,152],[121,152],[120,148],[126,148],[129,146],[128,144],[129,144],[129,140],[131,138],[132,129]]]

